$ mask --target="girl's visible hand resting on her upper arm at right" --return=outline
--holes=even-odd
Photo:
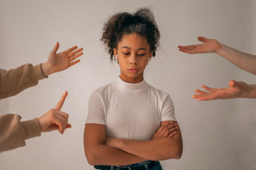
[[[173,121],[167,122],[163,124],[158,131],[155,132],[154,136],[151,138],[153,139],[158,139],[161,137],[172,137],[176,134],[176,130],[178,130],[178,124],[175,123],[173,124]]]

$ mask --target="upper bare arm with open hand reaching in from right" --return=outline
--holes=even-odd
[[[240,69],[256,75],[256,56],[233,49],[215,39],[208,39],[199,36],[198,40],[204,43],[198,45],[178,46],[179,51],[187,54],[216,53],[238,66]]]

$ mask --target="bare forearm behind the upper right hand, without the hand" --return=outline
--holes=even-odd
[[[219,44],[220,49],[217,51],[219,56],[226,58],[240,69],[256,75],[256,56],[238,51],[222,43]]]

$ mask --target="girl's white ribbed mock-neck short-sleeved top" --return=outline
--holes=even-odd
[[[85,124],[105,125],[106,136],[119,139],[150,140],[161,121],[177,121],[169,94],[145,80],[117,81],[92,92]]]

